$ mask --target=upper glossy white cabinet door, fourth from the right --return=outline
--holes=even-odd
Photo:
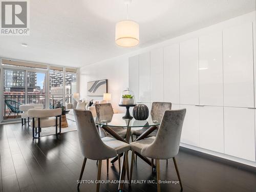
[[[179,104],[180,103],[180,61],[179,44],[164,48],[163,60],[163,84],[164,101]]]

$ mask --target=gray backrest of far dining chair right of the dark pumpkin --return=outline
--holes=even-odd
[[[172,103],[170,102],[153,102],[151,108],[151,117],[153,121],[161,122],[163,114],[166,110],[172,110]]]

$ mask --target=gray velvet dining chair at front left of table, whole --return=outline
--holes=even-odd
[[[102,160],[116,157],[117,154],[127,153],[130,150],[130,145],[112,137],[100,138],[91,111],[74,110],[74,115],[79,144],[84,157],[77,185],[77,188],[79,188],[87,159],[99,160],[97,180],[100,180]],[[127,155],[125,156],[127,157]],[[128,158],[125,158],[125,161],[127,164]],[[99,191],[99,183],[97,183],[97,191]]]

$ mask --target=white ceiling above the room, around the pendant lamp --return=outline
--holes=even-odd
[[[31,0],[30,35],[0,36],[0,56],[82,67],[254,10],[255,0],[133,0],[140,44],[121,48],[115,23],[126,18],[123,0]]]

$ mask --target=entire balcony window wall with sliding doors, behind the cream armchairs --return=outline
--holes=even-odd
[[[21,104],[40,103],[45,109],[59,108],[71,103],[73,94],[78,92],[75,68],[48,66],[40,69],[2,64],[0,73],[3,120],[20,118]]]

